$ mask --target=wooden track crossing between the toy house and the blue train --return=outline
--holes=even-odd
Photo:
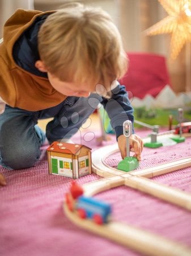
[[[191,166],[191,158],[180,159],[165,164],[159,164],[154,167],[145,168],[142,170],[134,170],[124,174],[124,171],[117,170],[109,167],[104,163],[104,160],[118,151],[118,145],[114,144],[112,147],[106,146],[92,152],[92,170],[102,177],[120,176],[124,179],[108,182],[107,179],[101,179],[100,181],[94,181],[93,183],[87,183],[84,185],[87,195],[95,195],[98,192],[112,188],[111,186],[127,185],[128,187],[135,188],[139,191],[148,193],[152,196],[158,197],[169,203],[176,204],[179,207],[191,210],[191,195],[181,191],[180,189],[168,187],[152,181],[146,178],[154,177],[168,172],[180,170]],[[114,179],[114,178],[113,178]],[[117,182],[120,182],[118,184]],[[97,183],[97,184],[96,184]],[[98,185],[99,184],[99,185]],[[109,187],[110,186],[110,187]],[[95,191],[94,191],[95,189]]]

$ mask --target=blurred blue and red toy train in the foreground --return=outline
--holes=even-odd
[[[65,200],[69,210],[77,212],[80,218],[90,218],[99,225],[109,221],[112,212],[111,205],[92,197],[83,196],[83,189],[76,181],[72,181]]]

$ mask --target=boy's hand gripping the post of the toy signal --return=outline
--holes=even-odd
[[[134,152],[134,157],[139,161],[141,160],[141,152],[143,150],[143,141],[142,139],[136,135],[132,134],[129,137],[130,151]],[[118,148],[121,152],[122,159],[126,156],[126,137],[122,134],[118,137]]]

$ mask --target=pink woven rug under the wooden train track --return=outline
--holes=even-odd
[[[148,133],[137,132],[141,136]],[[99,134],[95,134],[98,137]],[[83,144],[98,148],[96,139]],[[90,137],[89,137],[90,139]],[[79,143],[79,136],[74,137]],[[109,144],[115,142],[114,136]],[[28,170],[8,171],[0,167],[7,179],[1,187],[0,251],[3,256],[133,256],[140,255],[125,247],[79,229],[71,223],[62,210],[63,195],[69,189],[71,179],[48,175],[46,147],[35,167]],[[145,148],[139,168],[169,162],[191,156],[191,138],[185,143],[158,149]],[[116,166],[121,160],[116,154],[107,164]],[[79,179],[87,183],[100,179],[92,174]],[[191,192],[191,168],[155,177],[154,180]],[[191,247],[190,212],[155,199],[128,187],[118,187],[96,195],[112,204],[113,218],[117,221],[155,232]],[[183,255],[182,255],[183,256]]]

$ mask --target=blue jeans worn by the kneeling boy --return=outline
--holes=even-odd
[[[36,126],[38,119],[54,117],[46,126],[49,143],[71,138],[101,100],[97,94],[67,97],[61,104],[37,112],[6,105],[0,115],[0,165],[9,169],[32,167],[40,159],[40,146],[45,140],[45,134]]]

